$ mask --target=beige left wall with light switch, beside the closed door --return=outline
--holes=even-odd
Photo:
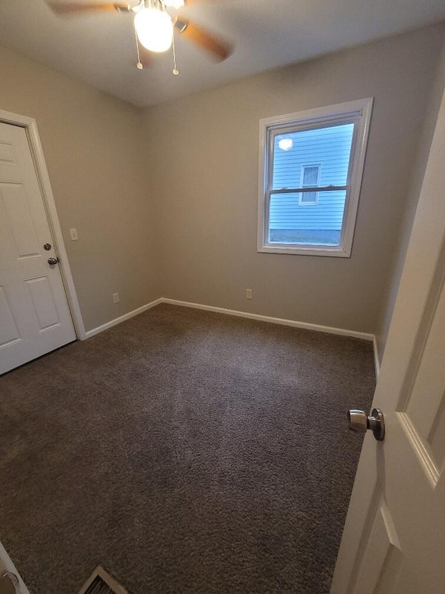
[[[1,47],[0,109],[37,120],[86,329],[159,297],[140,111]]]

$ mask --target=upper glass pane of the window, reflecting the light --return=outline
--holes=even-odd
[[[318,173],[321,186],[346,185],[353,132],[354,124],[346,123],[275,134],[271,189],[312,185]]]

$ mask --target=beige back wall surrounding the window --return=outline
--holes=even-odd
[[[163,295],[374,332],[443,31],[433,26],[146,109]],[[259,118],[369,96],[352,257],[257,253]]]

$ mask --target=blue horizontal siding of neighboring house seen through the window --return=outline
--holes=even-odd
[[[302,166],[321,164],[320,185],[346,185],[353,124],[277,134],[274,142],[273,189],[302,186]],[[281,139],[293,140],[282,150]],[[319,192],[314,205],[298,205],[297,194],[271,194],[270,229],[340,230],[346,192]]]

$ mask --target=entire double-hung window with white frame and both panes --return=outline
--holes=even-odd
[[[258,251],[350,256],[372,103],[260,121]]]

